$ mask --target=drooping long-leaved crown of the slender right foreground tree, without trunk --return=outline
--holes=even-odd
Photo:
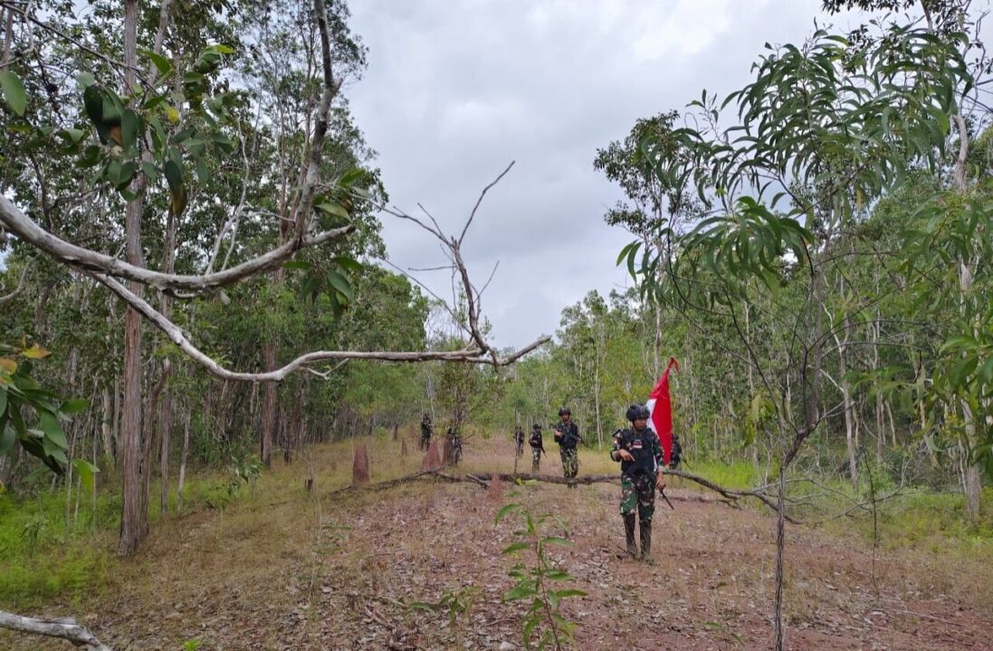
[[[690,305],[743,300],[751,278],[775,293],[787,251],[810,264],[815,232],[850,220],[913,166],[935,167],[957,110],[955,89],[970,83],[963,38],[894,26],[853,59],[847,38],[818,31],[802,49],[786,45],[762,58],[755,80],[720,104],[704,91],[691,106],[713,133],[680,129],[648,136],[641,146],[659,183],[691,183],[723,213],[678,237],[675,263],[669,251],[645,249],[638,264],[639,241],[621,258],[659,299],[666,296],[663,273],[701,279],[677,290],[677,300]],[[718,132],[729,104],[737,105],[739,122]],[[750,189],[758,195],[743,195]],[[767,191],[777,192],[767,201]],[[667,225],[656,232],[676,235]]]

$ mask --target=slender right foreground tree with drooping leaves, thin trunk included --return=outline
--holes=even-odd
[[[680,238],[675,256],[644,256],[638,273],[646,290],[734,325],[775,408],[782,446],[777,649],[783,648],[785,473],[829,413],[821,382],[827,341],[844,327],[826,323],[824,315],[839,236],[909,169],[934,163],[957,110],[950,89],[968,79],[958,39],[895,26],[861,52],[849,44],[818,32],[803,47],[783,46],[756,65],[752,83],[720,104],[737,106],[737,123],[718,129],[719,105],[703,93],[694,105],[710,130],[677,133],[689,157],[666,156],[665,142],[648,147],[649,156],[657,152],[660,178],[691,182],[717,209]],[[636,241],[623,252],[633,267],[641,246]],[[666,292],[663,273],[681,282]],[[794,321],[784,324],[790,339],[784,367],[770,367],[739,322],[752,280],[773,297],[784,283],[803,287]]]

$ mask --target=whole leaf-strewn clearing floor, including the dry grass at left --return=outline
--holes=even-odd
[[[500,598],[513,562],[500,550],[516,523],[494,524],[517,500],[569,524],[573,545],[551,557],[589,592],[563,607],[576,648],[772,647],[767,513],[670,488],[676,510],[656,511],[647,566],[621,554],[616,486],[515,491],[422,482],[201,513],[162,527],[119,588],[75,611],[117,651],[522,649],[523,606]],[[873,564],[862,541],[797,527],[788,546],[788,648],[993,649],[989,604],[947,576],[989,582],[990,568],[911,552]],[[0,648],[67,646],[0,636]]]

